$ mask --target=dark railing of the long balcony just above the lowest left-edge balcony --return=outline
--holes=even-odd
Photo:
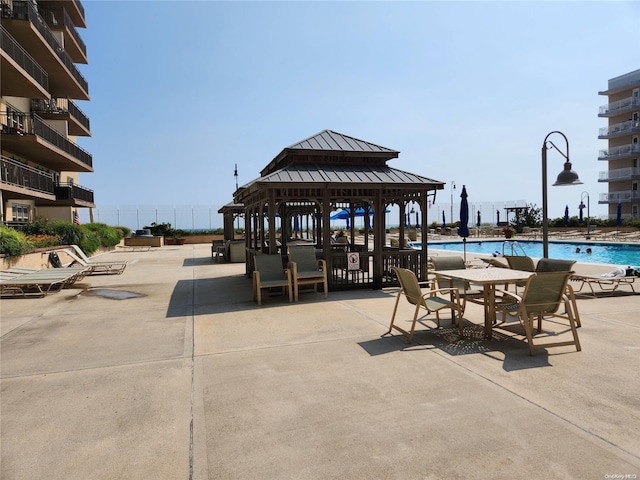
[[[76,160],[92,167],[93,157],[78,145],[69,140],[35,113],[0,114],[2,134],[6,135],[36,135],[48,143],[58,147]]]

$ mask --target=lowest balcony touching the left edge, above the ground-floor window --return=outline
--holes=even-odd
[[[55,198],[53,176],[9,157],[0,158],[0,182],[5,198]]]

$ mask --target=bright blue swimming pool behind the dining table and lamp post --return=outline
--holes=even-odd
[[[422,243],[411,242],[410,246],[420,249],[422,248]],[[429,244],[429,248],[434,250],[450,250],[453,252],[464,251],[462,242],[434,242]],[[580,248],[580,253],[576,253],[576,248]],[[587,248],[591,248],[592,253],[585,253]],[[467,240],[467,253],[486,253],[491,255],[494,252],[504,253],[505,255],[527,255],[529,257],[541,258],[542,242],[535,240]],[[575,260],[580,263],[608,263],[639,268],[640,245],[628,243],[549,242],[549,257]]]

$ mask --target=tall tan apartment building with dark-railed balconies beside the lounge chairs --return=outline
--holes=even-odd
[[[76,100],[89,86],[76,64],[87,51],[79,0],[1,0],[0,206],[2,221],[19,225],[36,217],[73,220],[95,207],[93,191],[78,184],[93,172],[91,154],[76,143],[90,136]]]

